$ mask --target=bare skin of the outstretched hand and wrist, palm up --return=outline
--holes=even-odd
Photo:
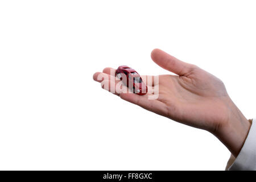
[[[251,123],[230,99],[223,82],[196,65],[184,63],[160,49],[154,49],[151,58],[160,67],[176,74],[159,75],[158,83],[148,85],[148,88],[159,86],[159,97],[148,100],[152,93],[138,96],[122,93],[122,90],[116,90],[115,94],[156,114],[209,131],[237,156]],[[110,72],[114,69],[105,68],[93,75],[93,79],[109,91],[119,81]],[[100,77],[102,75],[104,78]],[[146,83],[146,79],[143,81]],[[108,88],[104,86],[106,84]]]

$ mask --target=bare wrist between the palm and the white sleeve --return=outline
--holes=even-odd
[[[229,119],[214,135],[237,157],[245,143],[251,122],[245,118],[231,100],[228,105]]]

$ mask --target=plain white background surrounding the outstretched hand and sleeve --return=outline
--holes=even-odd
[[[255,116],[255,1],[0,1],[0,169],[223,170],[207,131],[101,89],[93,73],[168,73],[160,48],[224,81]]]

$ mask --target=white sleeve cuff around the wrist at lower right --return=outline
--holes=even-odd
[[[253,119],[245,143],[228,170],[256,170],[256,119]]]

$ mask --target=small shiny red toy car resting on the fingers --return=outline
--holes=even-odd
[[[129,85],[133,86],[133,93],[136,93],[138,95],[144,95],[147,93],[146,84],[144,84],[141,76],[139,76],[139,73],[137,73],[133,68],[130,68],[127,66],[118,67],[117,71],[115,72],[115,76],[117,76],[122,80],[122,74],[126,75],[126,78],[127,78],[126,86],[127,87],[129,87]]]

